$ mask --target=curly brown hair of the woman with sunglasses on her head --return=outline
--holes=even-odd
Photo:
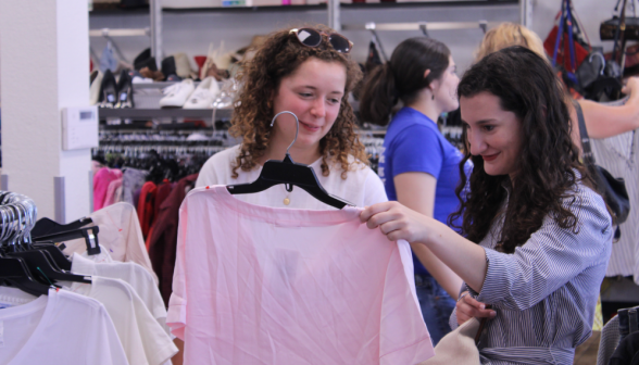
[[[326,34],[335,32],[323,25],[312,27]],[[234,178],[238,177],[238,168],[245,172],[254,168],[256,161],[266,152],[272,136],[271,119],[274,116],[272,97],[277,93],[280,80],[291,75],[310,58],[341,63],[347,71],[344,97],[339,114],[328,134],[320,141],[322,174],[328,176],[330,160],[341,164],[342,179],[346,179],[347,172],[353,168],[352,165],[368,164],[364,144],[354,130],[353,109],[347,100],[348,93],[362,78],[362,71],[348,54],[333,49],[327,37],[322,38],[318,47],[305,47],[295,35],[289,34],[289,29],[275,32],[238,73],[237,78],[241,87],[238,102],[234,106],[229,131],[234,137],[241,137],[242,144],[233,168]],[[354,162],[349,163],[349,154],[355,158]]]

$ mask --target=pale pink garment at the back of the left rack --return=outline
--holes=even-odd
[[[93,221],[92,225],[100,227],[98,240],[100,246],[105,248],[102,251],[106,251],[114,261],[135,262],[141,265],[158,282],[145,247],[138,215],[133,205],[116,203],[93,212],[89,216]],[[70,240],[65,244],[66,254],[83,253],[87,250],[84,239]]]

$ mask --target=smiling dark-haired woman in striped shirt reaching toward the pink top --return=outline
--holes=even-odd
[[[568,109],[549,64],[512,47],[472,66],[458,88],[474,169],[462,234],[397,202],[362,222],[426,246],[463,280],[451,325],[489,317],[483,364],[572,364],[591,333],[612,250],[612,219],[578,159]],[[476,244],[479,243],[479,244]],[[491,304],[492,310],[487,310]]]

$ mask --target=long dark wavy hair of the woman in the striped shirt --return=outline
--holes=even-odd
[[[512,181],[509,175],[488,175],[481,156],[471,154],[464,126],[466,151],[460,164],[462,180],[456,188],[461,206],[451,214],[449,224],[462,216],[462,226],[458,228],[471,241],[480,242],[506,199],[502,187],[505,182],[511,193],[503,212],[498,251],[513,253],[541,227],[549,214],[560,227],[576,230],[578,218],[569,210],[577,199],[573,192],[575,184],[581,180],[593,187],[593,182],[571,139],[564,92],[548,62],[523,47],[491,53],[464,74],[458,88],[460,99],[480,92],[499,97],[501,108],[513,112],[522,123],[518,172]],[[463,168],[467,160],[475,165],[469,177]],[[468,182],[469,191],[465,189]],[[566,199],[567,206],[562,205]]]

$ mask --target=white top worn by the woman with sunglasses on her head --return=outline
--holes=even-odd
[[[212,155],[204,163],[202,169],[200,169],[196,187],[248,184],[256,180],[262,172],[262,166],[258,166],[250,172],[238,168],[238,178],[231,178],[233,166],[239,154],[239,149],[240,144]],[[354,161],[354,158],[350,155],[349,161]],[[339,165],[337,165],[338,168],[331,168],[328,176],[322,175],[322,159],[315,161],[310,166],[315,171],[315,175],[324,190],[329,194],[355,204],[355,206],[364,207],[388,201],[384,184],[381,184],[379,176],[371,167],[364,166],[363,164],[353,165],[353,171],[347,173],[347,179],[344,180],[341,178],[341,168]],[[262,206],[313,211],[335,210],[335,207],[324,204],[299,187],[293,187],[293,190],[288,192],[284,185],[276,185],[258,193],[236,194],[234,197],[247,203]],[[284,203],[285,199],[288,199],[288,205]]]

